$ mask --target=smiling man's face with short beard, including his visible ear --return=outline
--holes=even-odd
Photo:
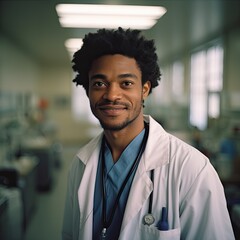
[[[91,110],[104,129],[117,131],[143,123],[142,102],[150,82],[142,86],[141,80],[134,58],[105,55],[92,63],[88,96]]]

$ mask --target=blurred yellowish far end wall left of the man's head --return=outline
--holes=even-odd
[[[70,59],[69,59],[70,63]],[[81,144],[89,139],[91,125],[77,121],[71,111],[72,69],[66,67],[43,67],[38,84],[38,93],[49,101],[48,117],[57,128],[61,142]]]

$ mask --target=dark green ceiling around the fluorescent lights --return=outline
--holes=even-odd
[[[166,7],[167,13],[158,23],[144,31],[148,38],[155,39],[160,60],[240,28],[239,0],[0,0],[0,34],[41,64],[69,64],[65,40],[96,29],[62,28],[55,11],[60,2]]]

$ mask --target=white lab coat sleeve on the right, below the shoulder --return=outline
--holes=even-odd
[[[235,239],[222,184],[207,158],[180,205],[180,224],[181,239]]]

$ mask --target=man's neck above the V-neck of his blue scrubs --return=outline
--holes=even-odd
[[[113,161],[117,162],[127,145],[144,129],[144,122],[135,124],[120,131],[104,130],[106,141],[111,149]]]

